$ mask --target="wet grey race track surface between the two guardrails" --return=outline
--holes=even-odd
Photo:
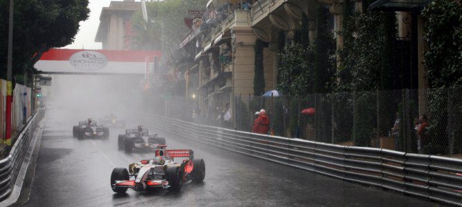
[[[53,113],[53,112],[51,112]],[[50,114],[50,113],[48,113]],[[135,121],[128,121],[136,126]],[[180,193],[151,190],[117,195],[110,188],[115,167],[153,158],[153,153],[126,154],[118,150],[111,128],[107,140],[72,136],[72,126],[60,119],[44,119],[44,134],[30,199],[25,206],[436,206],[429,201],[340,181],[228,152],[173,135],[169,148],[194,150],[205,160],[205,179],[187,183]],[[151,133],[152,126],[147,126]]]

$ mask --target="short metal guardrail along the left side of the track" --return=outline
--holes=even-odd
[[[15,144],[12,146],[8,157],[0,160],[0,201],[6,199],[15,186],[16,178],[21,170],[24,157],[30,146],[37,124],[43,119],[45,110],[41,109],[35,113],[28,124],[19,134]]]

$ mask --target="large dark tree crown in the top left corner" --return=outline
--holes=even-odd
[[[79,22],[89,17],[88,0],[15,1],[13,28],[13,75],[33,66],[50,48],[74,41]],[[0,75],[6,77],[8,53],[8,0],[0,0]]]

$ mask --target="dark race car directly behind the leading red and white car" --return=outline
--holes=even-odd
[[[165,138],[157,134],[149,135],[149,131],[143,126],[125,130],[124,135],[118,137],[118,148],[125,152],[138,150],[154,150],[157,145],[165,145]]]

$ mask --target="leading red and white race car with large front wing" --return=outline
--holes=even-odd
[[[111,174],[111,188],[115,193],[125,193],[128,188],[136,191],[148,188],[167,188],[181,190],[187,181],[201,182],[205,178],[205,162],[194,159],[192,150],[166,150],[167,146],[158,145],[156,157],[129,165],[126,168],[114,168]],[[181,163],[175,157],[185,157]]]

